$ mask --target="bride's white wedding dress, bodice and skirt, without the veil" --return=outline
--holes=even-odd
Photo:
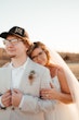
[[[52,79],[53,85],[61,91],[57,76]],[[75,104],[63,104],[57,101],[55,108],[45,115],[45,120],[79,120],[78,110]]]

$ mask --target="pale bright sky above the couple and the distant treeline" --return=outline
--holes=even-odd
[[[13,26],[24,27],[31,41],[79,52],[79,0],[0,0],[0,33]]]

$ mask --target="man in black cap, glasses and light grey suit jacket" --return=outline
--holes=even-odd
[[[0,119],[44,120],[43,111],[52,109],[53,104],[39,97],[41,88],[50,88],[49,70],[27,57],[31,43],[24,28],[14,26],[1,33],[0,37],[4,38],[3,44],[11,58],[5,68],[12,73],[11,80],[5,77],[6,83],[11,81],[10,88],[0,92]]]

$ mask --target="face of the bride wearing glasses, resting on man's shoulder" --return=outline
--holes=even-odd
[[[48,63],[47,53],[40,47],[32,51],[31,59],[41,65],[45,65]]]

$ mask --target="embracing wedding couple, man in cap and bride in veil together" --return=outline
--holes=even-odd
[[[3,73],[0,119],[78,120],[79,85],[62,58],[56,52],[51,57],[40,41],[31,44],[22,27],[14,26],[0,37],[11,58],[1,68],[10,72],[11,79]]]

